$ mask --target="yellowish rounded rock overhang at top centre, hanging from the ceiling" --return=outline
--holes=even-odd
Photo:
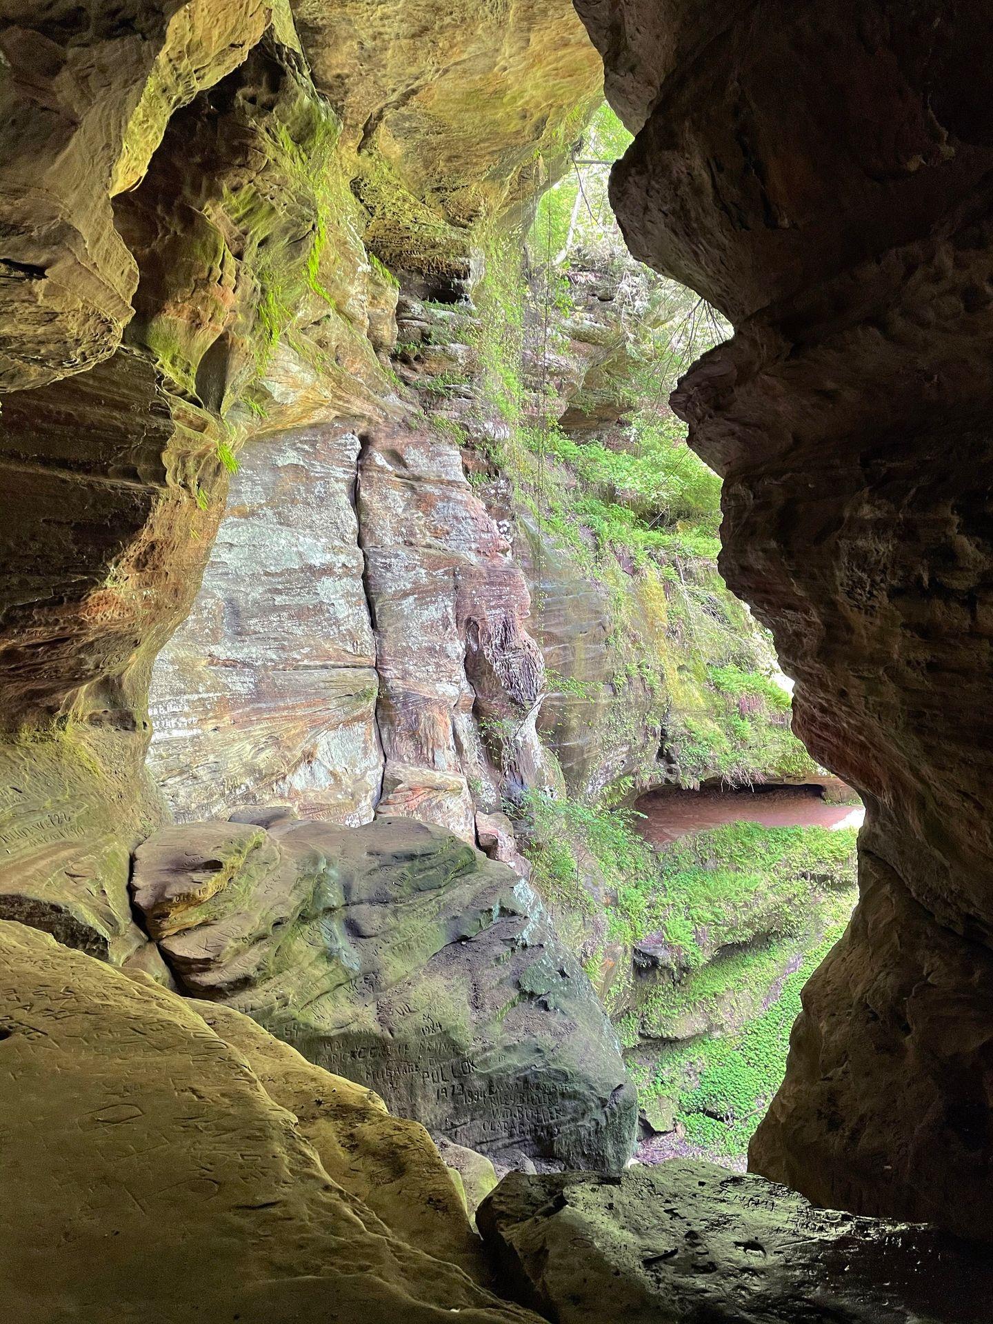
[[[314,79],[342,115],[367,241],[450,290],[481,221],[526,213],[561,172],[602,68],[560,0],[295,0]]]

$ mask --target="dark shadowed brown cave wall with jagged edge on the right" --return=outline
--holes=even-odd
[[[724,311],[683,380],[722,568],[867,804],[751,1166],[993,1235],[993,17],[978,3],[577,0],[636,142],[637,257]]]

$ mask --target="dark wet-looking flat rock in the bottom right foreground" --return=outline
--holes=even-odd
[[[556,1324],[980,1324],[985,1247],[814,1209],[698,1160],[510,1173],[477,1214],[522,1300]]]

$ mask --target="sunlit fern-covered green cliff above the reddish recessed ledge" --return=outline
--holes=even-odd
[[[581,152],[613,151],[618,142],[606,132],[610,124],[606,113],[594,120],[600,146]],[[667,755],[685,785],[715,776],[737,785],[810,775],[814,764],[789,731],[789,699],[775,682],[755,695],[732,692],[728,667],[768,679],[775,654],[720,580],[720,479],[690,450],[686,429],[666,405],[679,372],[726,328],[690,291],[633,262],[610,221],[594,278],[601,279],[609,257],[618,293],[608,328],[596,335],[614,340],[571,404],[597,418],[616,413],[618,424],[609,434],[567,433],[557,421],[565,402],[553,389],[556,355],[569,336],[591,332],[585,314],[575,328],[572,320],[572,282],[583,287],[584,269],[571,275],[549,260],[551,208],[552,201],[539,208],[527,265],[506,236],[487,242],[467,339],[481,363],[482,392],[504,424],[487,458],[514,485],[536,564],[551,549],[575,563],[577,577],[605,589],[613,703],[601,686],[588,695],[591,706],[620,739],[630,720],[632,686],[647,688],[653,724],[665,728]],[[446,385],[440,381],[438,389]],[[534,605],[540,637],[540,593]],[[557,688],[569,692],[561,683]],[[634,730],[630,737],[637,741]]]

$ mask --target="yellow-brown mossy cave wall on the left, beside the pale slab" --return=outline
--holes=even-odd
[[[470,173],[545,152],[596,83],[565,4],[516,17],[571,36],[535,46],[503,24],[534,102],[512,94],[512,143],[502,111]],[[348,95],[322,93],[286,5],[49,5],[8,19],[3,42],[0,895],[123,961],[143,945],[126,857],[159,814],[148,674],[189,610],[234,453],[258,432],[389,414],[376,352],[396,287],[363,244],[363,126]],[[571,97],[553,111],[559,79]],[[401,91],[388,74],[379,89]],[[418,187],[445,196],[446,168],[421,162]],[[496,213],[523,188],[483,201]]]

